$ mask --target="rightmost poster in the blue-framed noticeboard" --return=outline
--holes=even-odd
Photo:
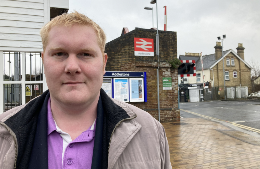
[[[143,102],[143,78],[129,78],[130,102]]]

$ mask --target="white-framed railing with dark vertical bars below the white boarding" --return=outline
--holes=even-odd
[[[5,57],[8,54],[9,57]],[[18,55],[15,56],[15,54]],[[11,55],[16,59],[12,59]],[[0,114],[10,108],[27,103],[47,90],[43,62],[40,56],[39,52],[0,51]],[[19,58],[19,61],[17,58]],[[39,72],[37,74],[38,68]],[[12,70],[14,71],[12,72]],[[18,100],[13,99],[16,96],[12,96],[17,95],[17,86],[15,84],[19,85],[20,98]],[[34,85],[38,86],[38,88],[35,88],[38,90],[34,90]],[[28,91],[26,92],[26,86],[30,86],[30,94],[28,94]]]

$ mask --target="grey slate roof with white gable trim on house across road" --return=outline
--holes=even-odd
[[[232,49],[223,51],[224,58],[230,52],[232,52],[234,55],[236,55],[237,58],[241,59],[242,62],[244,62],[249,68],[252,69],[252,67],[249,64],[247,64],[240,56],[238,56]],[[195,60],[195,62],[196,62],[196,70],[201,70],[202,69],[200,57],[180,55],[179,59],[180,60]],[[212,69],[217,63],[219,63],[222,60],[222,57],[219,58],[218,60],[216,60],[215,54],[209,54],[209,55],[202,56],[202,60],[203,60],[203,68],[204,69]]]

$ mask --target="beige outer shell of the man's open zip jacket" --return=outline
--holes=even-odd
[[[170,169],[170,154],[164,127],[149,113],[112,99],[130,119],[121,120],[112,133],[108,169]],[[16,164],[17,140],[4,122],[25,105],[0,115],[0,169],[13,169]]]

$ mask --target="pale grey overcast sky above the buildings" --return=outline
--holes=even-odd
[[[168,31],[177,32],[178,56],[190,53],[213,54],[217,37],[226,34],[224,50],[237,52],[238,43],[245,48],[245,60],[260,64],[259,0],[159,0],[158,28],[164,30],[167,6]],[[123,27],[129,31],[152,28],[153,7],[156,27],[156,4],[150,0],[70,0],[70,11],[77,10],[98,23],[107,34],[107,42],[118,38]]]

